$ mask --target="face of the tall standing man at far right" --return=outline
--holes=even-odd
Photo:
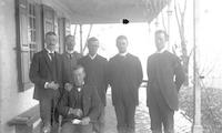
[[[158,33],[155,34],[155,47],[158,51],[161,51],[165,47],[165,34],[164,33]]]

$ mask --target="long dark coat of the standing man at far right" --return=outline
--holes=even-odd
[[[154,53],[149,57],[147,66],[149,79],[148,105],[150,104],[150,99],[161,95],[165,101],[157,101],[165,102],[170,109],[178,110],[178,93],[184,82],[180,59],[168,51]]]

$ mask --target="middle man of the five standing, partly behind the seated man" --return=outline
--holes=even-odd
[[[105,58],[99,55],[99,40],[94,37],[88,39],[89,54],[79,60],[79,63],[84,66],[87,72],[87,82],[98,89],[98,94],[102,101],[101,114],[98,122],[93,125],[97,133],[104,133],[104,106],[105,93],[108,88]]]

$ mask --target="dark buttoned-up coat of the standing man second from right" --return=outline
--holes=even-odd
[[[131,105],[138,105],[138,89],[143,73],[139,58],[128,53],[124,58],[117,54],[109,61],[109,83],[112,88],[112,103],[127,99]]]

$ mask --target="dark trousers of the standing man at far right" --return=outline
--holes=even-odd
[[[164,133],[174,133],[174,111],[169,108],[161,94],[150,99],[149,113],[152,133],[162,133],[162,124]]]

